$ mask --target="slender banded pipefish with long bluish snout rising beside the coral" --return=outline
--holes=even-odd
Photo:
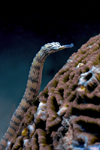
[[[4,137],[0,142],[0,150],[4,150],[7,146],[7,142],[13,138],[25,112],[30,107],[32,102],[35,101],[35,98],[39,93],[42,69],[46,57],[51,53],[71,47],[73,47],[73,44],[61,46],[59,42],[52,42],[42,46],[40,51],[36,54],[30,68],[26,91],[18,108],[16,109],[15,113],[11,118],[10,126],[7,132],[5,133]]]

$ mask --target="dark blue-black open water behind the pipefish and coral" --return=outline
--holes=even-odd
[[[46,59],[40,91],[73,52],[100,33],[99,5],[71,3],[0,5],[0,139],[21,101],[31,62],[41,46],[49,42],[74,43],[72,49]]]

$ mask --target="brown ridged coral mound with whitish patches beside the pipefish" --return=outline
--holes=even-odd
[[[96,143],[100,143],[100,35],[74,53],[39,94],[9,149],[66,150]]]

